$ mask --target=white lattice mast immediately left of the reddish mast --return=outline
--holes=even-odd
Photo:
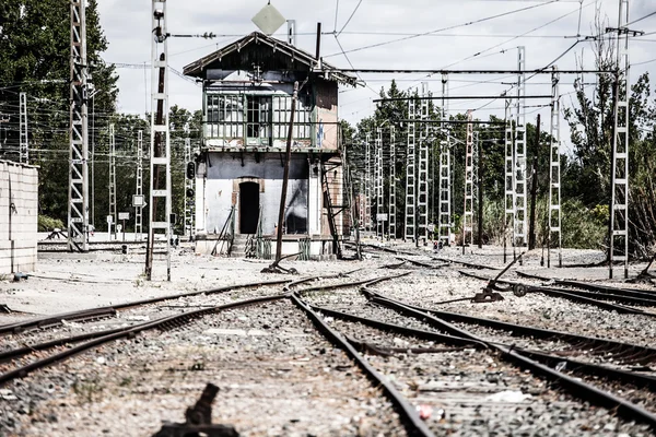
[[[442,75],[442,97],[448,96],[448,76]],[[448,101],[442,99],[442,129],[446,130],[446,142],[440,146],[440,239],[444,246],[450,241],[452,196],[450,196],[450,130],[444,121],[448,120]]]

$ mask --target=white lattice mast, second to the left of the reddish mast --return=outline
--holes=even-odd
[[[429,96],[429,84],[421,84],[422,97]],[[429,120],[429,101],[421,101],[421,119]],[[423,243],[429,240],[429,137],[430,123],[424,122],[421,127],[419,140],[419,167],[418,167],[418,189],[417,189],[417,243],[423,238]]]

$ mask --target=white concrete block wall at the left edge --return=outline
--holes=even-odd
[[[36,269],[37,216],[37,168],[0,161],[0,273]]]

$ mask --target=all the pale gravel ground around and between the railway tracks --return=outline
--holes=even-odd
[[[405,258],[443,263],[432,260],[433,255],[424,250],[426,248],[396,247],[415,253]],[[502,248],[468,249],[465,256],[460,248],[446,248],[437,256],[504,267]],[[651,318],[618,315],[539,294],[524,298],[504,294],[504,302],[491,304],[440,304],[471,297],[484,282],[461,276],[457,273],[460,267],[456,264],[432,270],[409,264],[397,270],[377,270],[400,262],[391,253],[365,253],[361,262],[284,261],[283,264],[294,267],[302,274],[291,277],[261,274],[260,270],[270,261],[198,257],[179,250],[173,258],[172,282],[162,281],[162,263],[155,265],[156,281],[144,281],[142,258],[136,253],[105,252],[44,255],[39,270],[27,281],[0,281],[0,304],[23,311],[0,315],[0,323],[175,293],[281,277],[326,276],[361,268],[349,279],[329,279],[321,284],[411,272],[409,276],[372,288],[420,306],[641,345],[652,346],[656,333],[656,323]],[[601,281],[608,274],[606,268],[547,270],[540,268],[539,258],[539,252],[529,253],[520,269],[546,276],[590,281]],[[590,251],[564,251],[567,265],[600,260],[599,253]],[[632,274],[641,269],[633,267]],[[495,274],[491,270],[477,272]],[[514,275],[511,273],[508,277]],[[620,280],[604,283],[629,287]],[[314,285],[316,283],[307,283],[300,287]],[[633,287],[656,291],[649,286]],[[3,338],[0,350],[101,327],[136,323],[144,317],[153,319],[179,312],[184,307],[278,294],[281,288],[260,287],[130,309],[116,318]],[[356,291],[352,287],[313,292],[307,298],[314,304],[364,317],[431,329],[418,320],[368,305]],[[214,422],[234,424],[244,435],[405,435],[386,399],[291,305],[286,302],[269,304],[263,312],[254,308],[235,309],[206,317],[183,330],[142,334],[0,387],[0,436],[150,435],[162,421],[183,421],[184,411],[197,400],[207,382],[221,388],[214,404]],[[359,340],[386,347],[450,347],[385,334],[358,323],[332,323]],[[494,335],[494,332],[488,334]],[[520,339],[514,340],[517,343]],[[523,341],[531,344],[529,340]],[[34,359],[34,356],[25,359]],[[394,353],[391,356],[367,355],[367,359],[388,376],[411,403],[432,406],[427,421],[436,435],[653,435],[643,426],[613,417],[606,410],[572,401],[542,380],[488,353],[473,350]],[[651,405],[651,400],[633,388],[608,389],[622,390],[630,399]],[[500,392],[506,392],[505,395],[520,392],[525,397],[512,402],[509,398],[490,398]],[[528,394],[531,397],[526,398]]]

